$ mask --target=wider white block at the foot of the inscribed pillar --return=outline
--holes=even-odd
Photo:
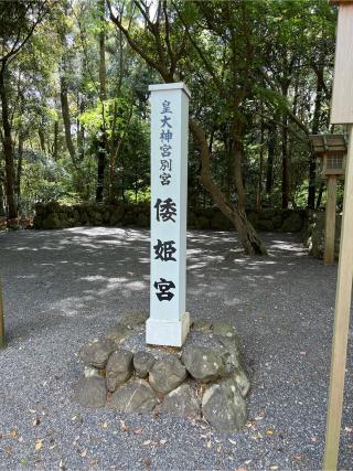
[[[189,330],[189,312],[184,312],[180,321],[149,318],[146,322],[146,343],[150,345],[182,346]]]

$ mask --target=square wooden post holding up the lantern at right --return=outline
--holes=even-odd
[[[327,201],[325,225],[324,225],[323,261],[325,265],[332,265],[334,261],[335,189],[336,189],[336,176],[329,175],[328,201]]]

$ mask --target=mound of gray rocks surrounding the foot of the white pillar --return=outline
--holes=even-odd
[[[158,347],[141,343],[146,319],[126,314],[107,336],[81,349],[85,368],[74,399],[84,407],[157,410],[200,418],[220,431],[239,430],[250,384],[235,328],[197,321],[182,349]]]

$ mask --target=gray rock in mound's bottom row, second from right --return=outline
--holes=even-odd
[[[179,417],[196,417],[200,414],[200,404],[190,384],[182,384],[171,390],[163,399],[161,411]]]

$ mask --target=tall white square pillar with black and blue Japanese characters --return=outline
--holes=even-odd
[[[190,92],[183,83],[150,85],[151,285],[146,342],[181,346],[189,333],[186,199]]]

